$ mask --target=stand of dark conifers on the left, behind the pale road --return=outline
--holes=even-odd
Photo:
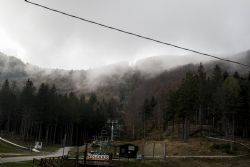
[[[60,94],[56,86],[42,83],[37,89],[27,80],[22,89],[5,80],[0,89],[0,130],[24,140],[45,144],[82,144],[91,139],[112,117],[112,103],[73,92]]]

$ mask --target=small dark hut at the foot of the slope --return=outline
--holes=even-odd
[[[138,146],[133,144],[120,145],[119,157],[124,158],[136,158],[138,152]]]

